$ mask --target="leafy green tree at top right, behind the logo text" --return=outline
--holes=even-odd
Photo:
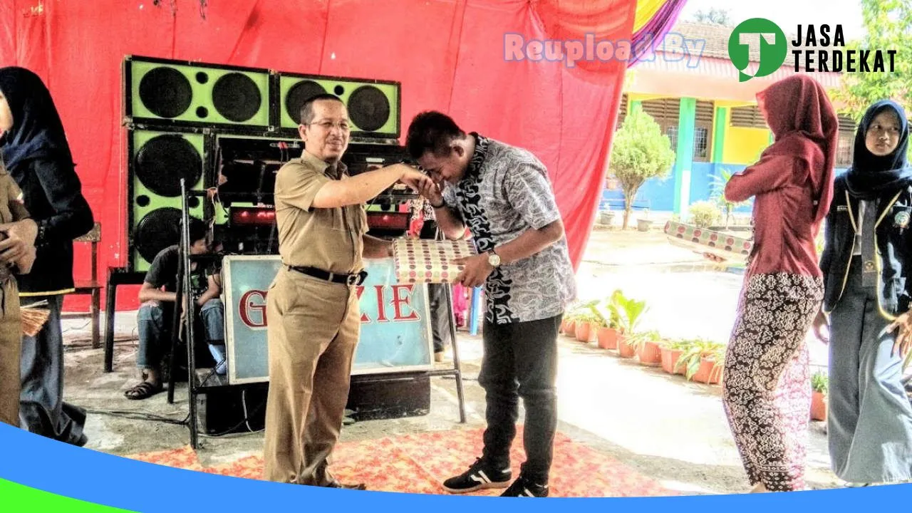
[[[884,65],[889,66],[886,50],[896,50],[893,73],[843,73],[842,87],[833,91],[840,103],[839,112],[861,120],[865,110],[879,99],[893,99],[912,112],[912,2],[908,0],[861,0],[862,20],[867,33],[861,41],[849,41],[846,50],[884,50]],[[887,68],[887,71],[889,68]]]

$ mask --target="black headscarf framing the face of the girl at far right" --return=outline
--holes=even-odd
[[[871,122],[884,110],[893,110],[899,119],[899,143],[896,150],[883,157],[868,151],[865,145]],[[884,194],[895,193],[912,183],[912,167],[907,162],[909,139],[908,120],[903,108],[895,101],[882,99],[869,107],[855,133],[855,155],[852,167],[845,175],[849,194],[871,200]]]

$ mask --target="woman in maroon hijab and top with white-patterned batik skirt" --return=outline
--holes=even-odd
[[[753,250],[725,355],[723,403],[753,492],[803,488],[811,410],[807,333],[824,298],[814,238],[833,198],[838,120],[824,89],[795,75],[757,94],[775,136],[731,177],[753,204]]]

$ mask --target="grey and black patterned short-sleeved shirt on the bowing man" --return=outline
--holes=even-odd
[[[479,253],[561,218],[547,170],[531,152],[476,133],[475,152],[461,182],[443,200],[472,230]],[[531,257],[497,267],[485,283],[485,319],[495,324],[548,319],[564,313],[576,284],[566,237]]]

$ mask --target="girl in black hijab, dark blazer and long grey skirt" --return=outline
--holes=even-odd
[[[890,100],[872,105],[827,215],[821,260],[830,322],[827,434],[833,471],[849,485],[912,479],[912,406],[901,383],[912,327],[908,135],[902,107]],[[824,341],[825,323],[822,312],[815,326]]]

